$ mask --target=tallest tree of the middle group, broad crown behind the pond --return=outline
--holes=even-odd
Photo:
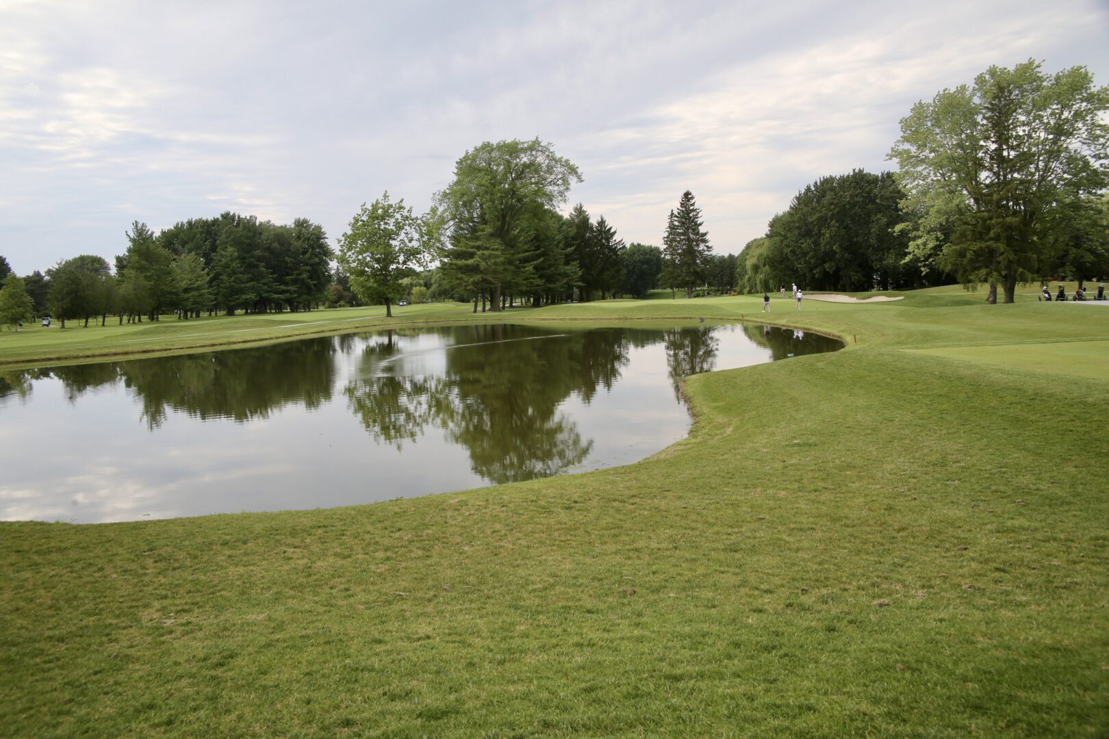
[[[578,167],[538,138],[466,152],[455,179],[436,196],[450,229],[444,267],[451,281],[488,292],[492,310],[500,310],[506,288],[535,290],[528,273],[538,255],[527,248],[521,225],[536,208],[564,203],[574,182],[581,182]]]

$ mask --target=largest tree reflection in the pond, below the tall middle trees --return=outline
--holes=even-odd
[[[344,390],[376,441],[398,449],[428,427],[466,448],[475,473],[491,482],[557,474],[592,449],[559,406],[610,389],[627,363],[619,331],[566,337],[519,326],[440,329],[444,363],[420,372],[398,359],[393,332],[369,345]]]

